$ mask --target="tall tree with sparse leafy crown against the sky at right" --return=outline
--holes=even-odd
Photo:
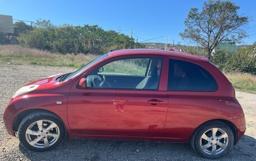
[[[218,44],[239,43],[246,37],[243,27],[248,24],[248,17],[239,16],[239,8],[230,1],[214,0],[204,2],[202,12],[191,8],[185,20],[186,28],[180,36],[202,45],[210,59]]]

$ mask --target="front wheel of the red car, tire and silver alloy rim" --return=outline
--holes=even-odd
[[[39,126],[38,126],[39,125]],[[20,123],[18,137],[22,146],[31,151],[48,151],[65,139],[65,125],[50,112],[33,112]]]

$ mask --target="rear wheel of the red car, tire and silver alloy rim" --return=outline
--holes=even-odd
[[[190,143],[201,157],[218,159],[226,155],[234,145],[234,134],[225,123],[210,121],[194,132]]]

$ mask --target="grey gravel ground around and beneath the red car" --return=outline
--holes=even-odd
[[[73,70],[0,61],[0,160],[205,160],[189,144],[171,142],[69,139],[44,153],[23,148],[16,137],[7,134],[3,125],[2,113],[10,97],[30,81]],[[221,160],[256,160],[256,94],[236,91],[236,96],[244,108],[247,130]]]

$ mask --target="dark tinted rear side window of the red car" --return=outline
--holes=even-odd
[[[187,61],[170,59],[168,90],[216,91],[216,80],[204,68]]]

